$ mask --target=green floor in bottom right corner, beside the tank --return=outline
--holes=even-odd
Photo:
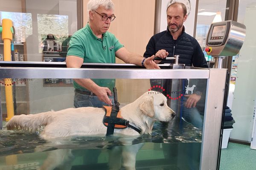
[[[220,170],[256,170],[256,150],[250,146],[228,143],[221,150]]]

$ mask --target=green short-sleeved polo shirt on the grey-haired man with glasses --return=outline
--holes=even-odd
[[[116,63],[115,52],[124,47],[114,34],[106,32],[102,39],[93,34],[89,24],[76,31],[70,39],[67,56],[77,56],[84,59],[84,63]],[[92,79],[101,87],[108,87],[111,91],[115,86],[115,79]],[[74,88],[84,89],[74,81]]]

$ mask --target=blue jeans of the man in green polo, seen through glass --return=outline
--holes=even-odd
[[[89,92],[89,91],[86,91],[86,92]],[[114,104],[113,96],[110,96],[110,99]],[[75,108],[81,108],[81,107],[102,108],[103,105],[107,106],[108,104],[100,101],[97,96],[81,94],[75,91],[75,96],[74,96]]]

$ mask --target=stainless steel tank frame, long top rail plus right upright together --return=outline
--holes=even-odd
[[[200,170],[217,169],[226,76],[227,69],[0,67],[0,78],[208,79]]]

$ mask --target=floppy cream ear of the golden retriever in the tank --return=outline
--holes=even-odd
[[[140,103],[140,111],[142,111],[145,115],[149,117],[154,116],[154,104],[153,104],[153,96],[144,98],[143,102]]]

